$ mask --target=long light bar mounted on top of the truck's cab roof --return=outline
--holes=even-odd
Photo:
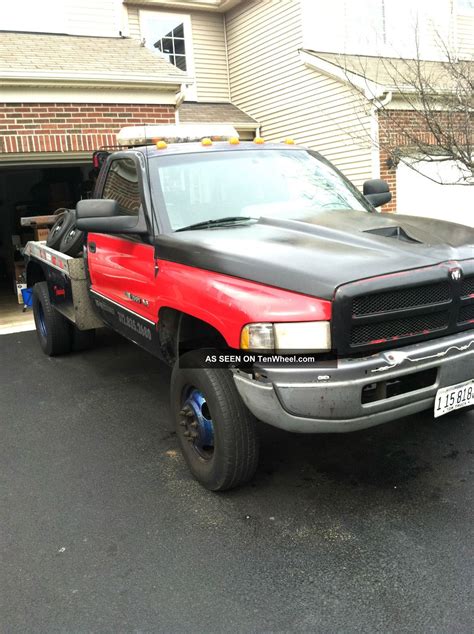
[[[117,134],[117,143],[127,147],[139,145],[156,145],[158,141],[165,143],[190,143],[209,138],[212,141],[228,141],[238,137],[237,130],[224,124],[193,125],[140,125],[122,128]]]

